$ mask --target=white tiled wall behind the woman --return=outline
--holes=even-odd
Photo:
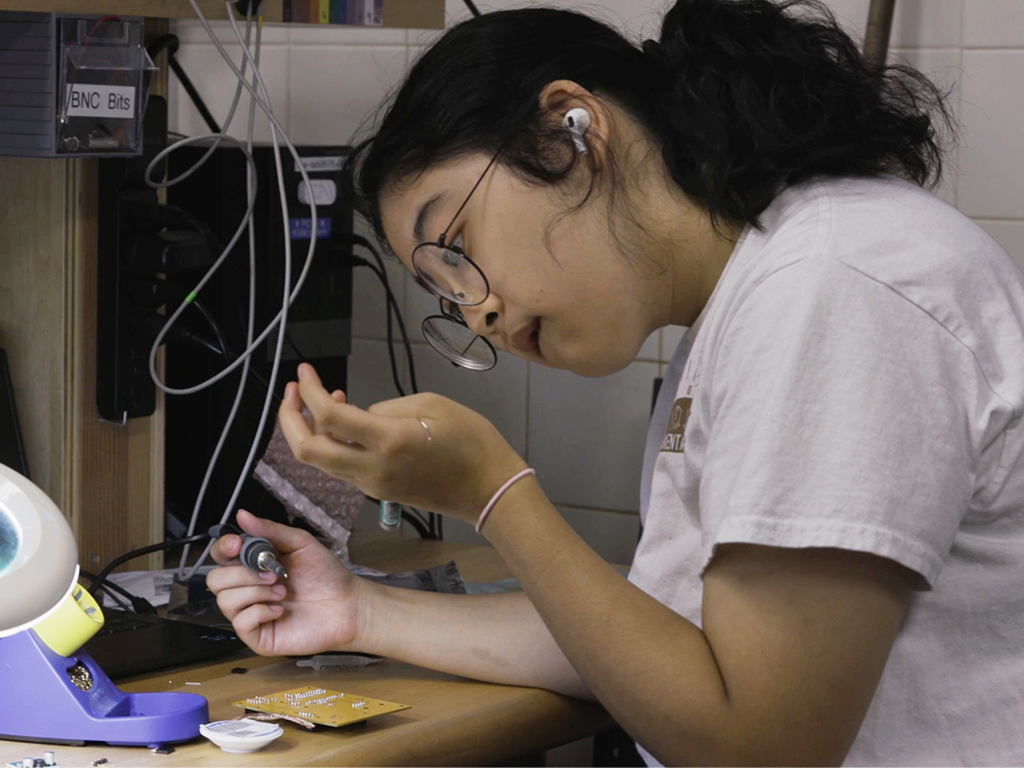
[[[450,22],[467,15],[446,0]],[[862,37],[869,0],[826,0]],[[529,4],[477,0],[482,11]],[[657,35],[663,0],[553,0],[599,14],[636,40]],[[891,44],[899,56],[953,89],[963,137],[949,158],[940,194],[974,217],[1024,265],[1024,2],[1022,0],[898,0]],[[222,120],[231,77],[198,25],[181,23],[179,58]],[[230,32],[218,28],[229,41]],[[262,72],[276,115],[296,143],[348,142],[401,80],[436,31],[317,26],[268,27]],[[238,47],[231,48],[238,55]],[[243,98],[242,109],[248,100]],[[188,134],[205,126],[172,88],[171,125]],[[231,132],[242,135],[244,112]],[[269,138],[265,119],[258,135]],[[389,274],[415,341],[421,389],[454,397],[489,418],[538,469],[569,523],[605,558],[628,562],[636,541],[639,470],[653,378],[682,334],[654,334],[639,359],[601,380],[575,379],[503,355],[487,374],[456,370],[422,341],[422,317],[434,303],[396,264]],[[384,300],[376,280],[357,270],[350,396],[356,403],[395,396],[384,335]],[[399,354],[403,359],[403,356]],[[401,364],[402,376],[407,367]],[[449,538],[471,539],[469,526],[449,524]]]

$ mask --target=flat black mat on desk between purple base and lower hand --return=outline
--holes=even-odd
[[[246,647],[230,628],[103,610],[103,628],[83,646],[112,680],[183,667]]]

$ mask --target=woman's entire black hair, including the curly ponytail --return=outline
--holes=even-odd
[[[485,13],[419,58],[348,157],[349,193],[381,242],[382,193],[445,160],[501,148],[524,178],[565,179],[580,156],[539,104],[555,80],[638,121],[716,225],[760,226],[782,189],[816,176],[933,185],[954,134],[942,91],[909,67],[871,70],[818,0],[679,0],[642,46],[573,11]]]

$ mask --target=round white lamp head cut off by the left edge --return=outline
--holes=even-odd
[[[78,581],[65,516],[35,483],[0,464],[0,637],[46,617]]]

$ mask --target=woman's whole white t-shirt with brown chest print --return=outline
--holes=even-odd
[[[1024,764],[1024,275],[903,181],[762,221],[665,376],[630,581],[699,627],[721,543],[895,560],[920,589],[846,764]]]

